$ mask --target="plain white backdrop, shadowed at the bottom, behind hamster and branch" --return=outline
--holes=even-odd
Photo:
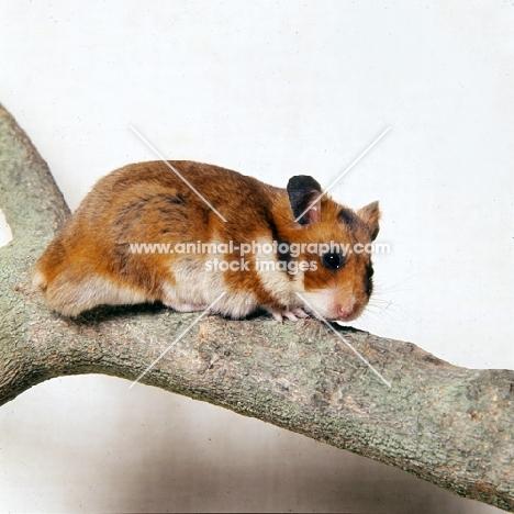
[[[71,209],[155,155],[380,200],[376,297],[354,326],[514,368],[509,1],[0,4],[0,102]],[[0,205],[1,206],[1,205]],[[1,223],[0,223],[1,225]],[[174,334],[170,334],[172,340]],[[404,472],[107,377],[0,409],[0,510],[485,513]]]

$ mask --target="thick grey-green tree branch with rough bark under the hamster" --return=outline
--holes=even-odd
[[[0,107],[0,404],[53,377],[134,380],[197,314],[157,305],[53,314],[30,284],[69,210],[46,164]],[[451,366],[413,344],[340,329],[388,388],[326,326],[204,317],[143,382],[204,400],[396,466],[514,511],[514,371]]]

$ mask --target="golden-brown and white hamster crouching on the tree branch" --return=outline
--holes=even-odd
[[[370,253],[354,248],[369,247],[379,216],[378,202],[354,211],[309,176],[281,189],[206,164],[132,164],[97,182],[33,283],[67,316],[160,301],[179,312],[215,302],[236,320],[265,310],[348,322],[372,292]]]

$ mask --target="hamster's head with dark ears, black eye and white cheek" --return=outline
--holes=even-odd
[[[287,191],[295,220],[287,237],[300,249],[292,258],[305,262],[297,277],[303,309],[328,321],[355,320],[373,289],[371,253],[379,232],[378,202],[354,211],[324,195],[308,176],[292,177]]]

